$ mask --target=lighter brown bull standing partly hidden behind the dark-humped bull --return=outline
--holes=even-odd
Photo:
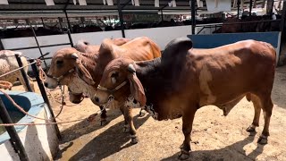
[[[112,39],[105,39],[99,48],[98,54],[90,55],[78,52],[76,49],[64,48],[57,51],[52,59],[48,75],[51,78],[46,80],[48,88],[55,88],[58,83],[67,85],[74,95],[85,93],[92,99],[97,91],[97,85],[104,72],[105,66],[120,56],[129,57],[135,61],[151,60],[161,56],[160,48],[150,38],[134,38],[122,46],[114,44]],[[77,72],[73,72],[76,68]],[[117,106],[116,103],[109,107],[120,107],[125,118],[125,131],[127,124],[130,125],[132,142],[137,142],[136,130],[133,125],[130,108]],[[106,115],[102,115],[105,119]]]

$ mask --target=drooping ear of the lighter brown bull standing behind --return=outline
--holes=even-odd
[[[92,79],[90,73],[88,72],[87,68],[85,68],[83,66],[83,64],[81,63],[81,59],[79,57],[79,55],[77,55],[76,53],[73,53],[71,55],[71,58],[75,59],[75,67],[76,70],[80,76],[80,79],[86,81],[89,85],[94,85],[95,81]]]

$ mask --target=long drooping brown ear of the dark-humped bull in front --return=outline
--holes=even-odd
[[[133,66],[133,65],[132,65]],[[134,68],[135,69],[135,68]],[[128,75],[128,79],[130,81],[130,91],[131,95],[140,103],[140,106],[146,105],[146,96],[144,92],[144,88],[140,82],[140,80],[136,76],[136,72],[131,72]]]

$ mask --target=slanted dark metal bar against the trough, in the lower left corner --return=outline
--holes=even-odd
[[[8,114],[6,107],[4,106],[3,100],[0,97],[0,118],[3,123],[13,123],[10,115]],[[22,161],[29,161],[29,157],[26,153],[26,150],[21,143],[21,140],[18,136],[17,131],[13,126],[5,126],[6,131],[8,132],[11,140],[11,144],[13,148],[15,149],[16,153],[18,153],[20,159]]]

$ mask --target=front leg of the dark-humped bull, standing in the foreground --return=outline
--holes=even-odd
[[[182,132],[184,133],[185,140],[182,142],[181,152],[179,154],[179,158],[181,160],[185,160],[185,159],[189,158],[190,132],[192,130],[195,113],[196,112],[192,112],[190,114],[184,114],[182,116]]]

